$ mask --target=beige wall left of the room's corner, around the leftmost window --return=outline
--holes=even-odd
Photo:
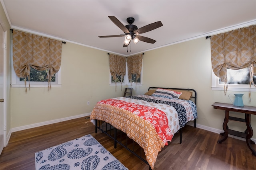
[[[49,91],[11,88],[11,127],[90,113],[99,100],[123,94],[121,88],[109,86],[107,52],[74,43],[62,45],[61,83]]]

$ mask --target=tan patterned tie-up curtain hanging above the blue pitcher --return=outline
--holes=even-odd
[[[225,94],[228,88],[227,68],[238,70],[250,67],[251,87],[252,76],[256,75],[256,25],[211,36],[211,55],[212,70],[225,82]]]

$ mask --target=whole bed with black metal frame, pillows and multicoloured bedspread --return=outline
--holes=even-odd
[[[102,100],[90,120],[99,129],[154,169],[158,152],[189,121],[196,127],[196,90],[150,87],[144,95]],[[126,138],[124,137],[126,135]],[[142,148],[130,140],[135,141]],[[131,149],[132,148],[132,149]]]

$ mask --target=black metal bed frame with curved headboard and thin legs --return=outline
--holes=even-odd
[[[150,89],[157,89],[158,87],[150,87]],[[190,88],[163,88],[163,89],[172,89],[172,90],[187,90],[187,91],[193,91],[192,98],[194,99],[194,103],[196,104],[196,90],[190,89]],[[194,127],[196,127],[196,119],[194,119]],[[100,130],[102,133],[105,133],[108,135],[111,139],[114,140],[114,148],[116,148],[117,143],[120,144],[122,147],[130,151],[132,154],[134,154],[136,157],[138,157],[140,160],[148,164],[144,150],[132,139],[127,137],[126,133],[116,129],[109,123],[106,123],[104,121],[98,121],[95,122],[95,133],[97,133],[97,130]],[[182,128],[177,132],[180,132],[180,144],[182,143]],[[176,134],[177,134],[176,133]],[[148,164],[149,165],[149,164]],[[151,170],[151,167],[149,166],[149,170]]]

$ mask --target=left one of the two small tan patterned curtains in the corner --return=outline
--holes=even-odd
[[[124,78],[126,74],[126,58],[119,55],[109,55],[109,68],[110,74],[113,76],[113,80],[115,80],[117,76],[121,76],[121,80]],[[121,90],[122,90],[122,81],[121,81]]]

